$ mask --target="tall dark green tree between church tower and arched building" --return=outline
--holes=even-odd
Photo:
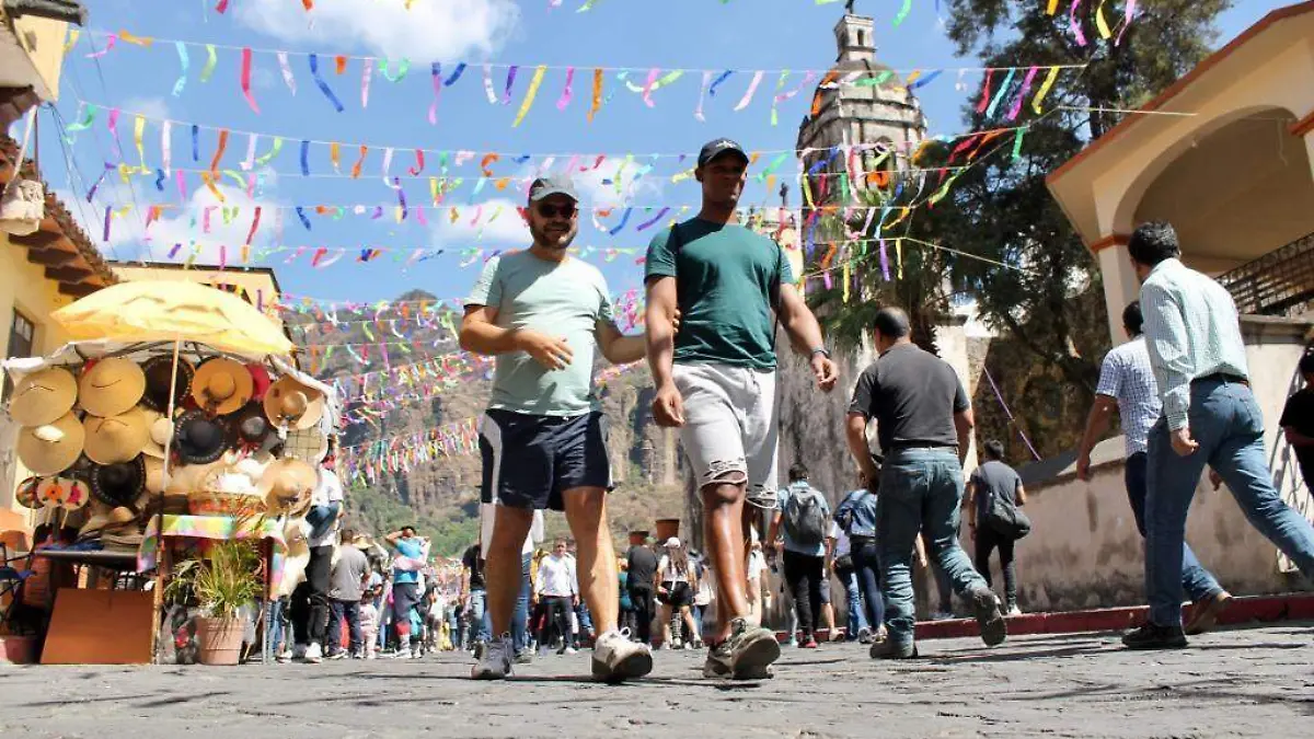
[[[1009,137],[987,142],[980,164],[959,178],[932,217],[942,241],[991,260],[950,259],[955,288],[974,295],[988,323],[1005,329],[1085,396],[1093,392],[1106,345],[1102,288],[1091,252],[1050,196],[1045,176],[1113,128],[1123,116],[1117,110],[1146,103],[1197,64],[1215,39],[1214,18],[1230,4],[1143,1],[1123,29],[1121,3],[1081,3],[1081,45],[1067,1],[1054,16],[1037,0],[950,3],[950,39],[961,55],[975,55],[984,67],[1088,64],[1059,75],[1045,114],[1026,110],[1018,118],[1031,116],[1018,156],[1010,156]],[[1101,38],[1096,8],[1108,13],[1113,38]],[[1001,82],[993,80],[992,95]],[[1021,84],[1018,74],[1004,100],[1012,101]],[[972,130],[1017,125],[1004,121],[1007,104],[987,118],[978,112],[980,99],[978,89],[964,104]]]

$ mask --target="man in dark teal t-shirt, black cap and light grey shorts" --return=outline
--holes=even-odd
[[[794,346],[811,354],[817,385],[829,392],[836,381],[821,327],[794,289],[781,247],[738,225],[748,162],[728,138],[703,147],[694,171],[702,210],[653,238],[645,275],[653,416],[681,427],[702,488],[717,609],[728,615],[708,639],[707,677],[766,677],[781,655],[771,631],[749,625],[744,588],[745,500],[775,505],[777,317]]]

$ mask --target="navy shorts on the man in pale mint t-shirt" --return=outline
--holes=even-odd
[[[480,423],[481,500],[522,509],[565,510],[572,488],[611,488],[599,412],[561,418],[491,409]]]

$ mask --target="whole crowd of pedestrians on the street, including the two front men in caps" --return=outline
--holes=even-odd
[[[830,604],[834,577],[845,593],[845,638],[870,642],[875,659],[916,657],[916,568],[932,573],[937,615],[951,614],[957,597],[987,646],[1005,640],[1007,617],[1021,605],[1014,558],[1030,531],[1028,492],[997,441],[982,444],[980,465],[968,465],[975,421],[963,383],[912,342],[901,309],[875,306],[876,359],[857,377],[845,417],[833,419],[857,468],[854,489],[832,505],[811,484],[805,462],[790,465],[778,484],[777,334],[783,330],[807,358],[817,391],[832,392],[838,372],[783,250],[738,222],[749,164],[731,139],[700,151],[698,216],[658,233],[644,260],[643,335],[622,334],[602,272],[568,252],[579,206],[566,180],[531,184],[523,217],[532,246],[484,266],[460,327],[465,351],[495,358],[480,423],[482,527],[464,558],[457,596],[470,614],[466,638],[474,632],[474,679],[512,675],[535,646],[558,654],[590,646],[593,676],[606,681],[646,675],[653,646],[706,650],[708,679],[769,679],[781,655],[775,631],[763,626],[774,594],[769,573],[781,575],[792,602],[788,640],[799,648],[841,632]],[[1273,487],[1227,291],[1183,264],[1168,224],[1138,227],[1127,252],[1143,283],[1141,300],[1123,314],[1131,341],[1104,362],[1077,473],[1091,476],[1091,450],[1117,410],[1150,604],[1146,623],[1123,642],[1176,648],[1210,629],[1231,601],[1184,540],[1206,467],[1306,575],[1314,573],[1314,527]],[[614,364],[648,359],[653,418],[678,429],[698,487],[702,552],[678,536],[654,548],[636,531],[616,555],[607,429],[595,392],[599,356]],[[1288,402],[1281,426],[1307,476],[1314,359],[1302,359],[1300,371],[1307,387]],[[547,552],[536,546],[543,510],[564,512],[572,531]],[[964,551],[963,534],[975,556]],[[397,558],[369,615],[386,643],[382,614],[392,613],[396,654],[405,656],[424,634],[407,618],[415,604],[444,601],[449,590],[439,586],[428,598],[427,577],[403,567],[427,556],[413,530],[386,540]],[[991,575],[996,555],[1003,597]],[[343,561],[335,586],[357,579],[359,563]],[[310,579],[322,581],[321,569]],[[352,588],[339,593],[344,602],[356,596]],[[1184,623],[1188,596],[1193,608]],[[364,609],[330,610],[350,619]]]

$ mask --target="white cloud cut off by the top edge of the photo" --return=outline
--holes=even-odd
[[[511,0],[328,0],[310,12],[292,0],[244,0],[235,12],[283,41],[420,62],[490,57],[520,20]]]

